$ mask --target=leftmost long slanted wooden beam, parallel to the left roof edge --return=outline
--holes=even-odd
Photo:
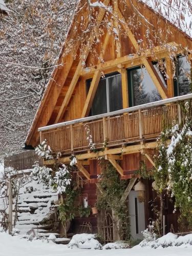
[[[105,6],[108,6],[108,5],[109,5],[109,2],[110,2],[110,0],[104,0],[104,1],[103,1],[103,4],[104,4]],[[99,9],[98,16],[97,16],[98,25],[101,24],[102,19],[103,19],[103,17],[104,17],[104,14],[105,14],[104,8],[100,8],[100,9]],[[94,42],[94,35],[91,35],[90,44],[89,44],[89,45],[92,45],[93,42]],[[62,116],[63,116],[63,114],[64,114],[65,111],[66,111],[67,105],[69,104],[69,101],[70,101],[70,99],[71,99],[71,96],[72,96],[72,94],[73,94],[73,91],[74,91],[74,89],[75,89],[75,86],[76,86],[76,84],[77,84],[77,81],[78,81],[78,79],[79,79],[79,76],[80,76],[80,73],[81,73],[81,70],[82,70],[82,60],[83,60],[83,61],[86,61],[88,55],[89,55],[89,47],[86,48],[86,50],[85,50],[84,53],[82,54],[82,57],[80,58],[80,61],[79,61],[79,63],[78,63],[77,69],[76,69],[76,71],[75,71],[75,74],[74,74],[73,79],[72,79],[72,81],[71,81],[71,84],[70,84],[70,86],[69,86],[69,89],[68,89],[68,92],[67,92],[67,94],[66,94],[66,97],[65,97],[65,99],[63,100],[62,105],[61,105],[60,110],[59,110],[59,113],[58,113],[58,115],[57,115],[57,117],[56,117],[56,119],[55,119],[55,123],[58,123],[58,122],[62,119]]]

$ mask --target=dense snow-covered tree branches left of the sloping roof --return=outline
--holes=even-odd
[[[78,1],[5,1],[0,13],[0,154],[25,141]]]

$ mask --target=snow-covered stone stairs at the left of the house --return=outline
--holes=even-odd
[[[54,234],[56,238],[60,238],[58,223],[54,222],[54,212],[50,210],[57,200],[58,196],[52,189],[45,188],[35,180],[29,181],[19,191],[15,228],[21,234],[26,234],[33,228],[40,237]],[[14,215],[13,212],[13,218]]]

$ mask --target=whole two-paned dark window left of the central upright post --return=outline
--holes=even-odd
[[[91,80],[87,80],[87,91]],[[122,109],[121,74],[115,73],[101,78],[93,100],[90,115],[99,115]]]

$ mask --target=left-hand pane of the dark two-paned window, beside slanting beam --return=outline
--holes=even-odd
[[[106,108],[106,80],[101,79],[92,104],[92,116],[107,112]]]

